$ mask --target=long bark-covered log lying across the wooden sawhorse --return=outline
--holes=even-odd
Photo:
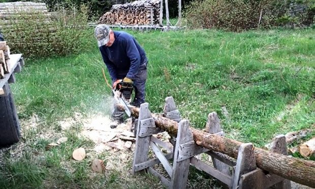
[[[139,108],[130,106],[132,115],[136,118],[139,116]],[[155,126],[167,131],[170,135],[176,136],[178,123],[152,114]],[[211,149],[215,152],[226,154],[230,157],[237,158],[238,149],[242,144],[239,141],[226,137],[213,135],[191,128],[194,140],[197,145]],[[294,182],[315,187],[315,162],[288,157],[285,155],[268,152],[267,150],[254,148],[257,167],[279,175],[283,178]]]

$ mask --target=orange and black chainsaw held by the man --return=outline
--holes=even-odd
[[[128,117],[131,117],[131,110],[128,107],[128,104],[131,101],[131,94],[133,90],[133,84],[122,82],[122,80],[120,80],[120,82],[116,85],[115,89],[112,89],[115,100],[123,105],[124,111]]]

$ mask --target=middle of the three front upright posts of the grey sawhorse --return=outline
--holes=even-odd
[[[186,188],[190,159],[178,161],[180,144],[194,140],[193,134],[187,120],[182,120],[178,124],[178,134],[176,137],[176,145],[174,150],[174,162],[171,179],[172,188]]]

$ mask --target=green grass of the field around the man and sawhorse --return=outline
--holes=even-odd
[[[314,128],[315,29],[129,32],[136,36],[149,59],[146,101],[152,112],[162,112],[164,99],[173,96],[182,118],[188,119],[192,127],[203,129],[208,114],[216,111],[227,137],[255,146],[263,146],[277,134]],[[93,45],[82,49],[82,54],[36,60],[26,57],[11,88],[22,123],[38,115],[41,124],[23,133],[23,150],[28,155],[2,161],[0,185],[161,186],[150,175],[138,178],[111,172],[91,177],[88,160],[71,160],[74,148],[92,146],[76,136],[80,126],[66,133],[70,138],[67,145],[53,150],[46,151],[45,146],[57,136],[38,137],[46,132],[60,133],[56,122],[74,112],[109,114],[105,99],[111,91],[102,75],[105,65],[92,30],[90,33],[82,43]],[[106,75],[109,78],[107,71]],[[26,169],[29,172],[23,172]],[[211,179],[204,180],[213,184]],[[191,187],[197,188],[201,182],[200,176],[190,176]]]

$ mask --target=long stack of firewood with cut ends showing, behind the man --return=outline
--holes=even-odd
[[[140,0],[123,5],[113,5],[110,12],[105,13],[98,23],[121,25],[157,24],[160,19],[160,3],[160,0]],[[152,22],[151,18],[153,19]]]

